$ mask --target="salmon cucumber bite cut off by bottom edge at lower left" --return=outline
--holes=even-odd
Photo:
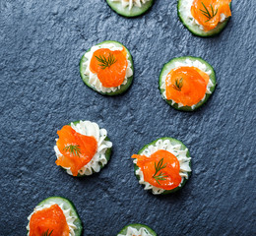
[[[67,199],[50,197],[28,217],[28,236],[80,236],[83,226],[76,208]]]

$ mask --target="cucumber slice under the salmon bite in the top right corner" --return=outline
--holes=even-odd
[[[219,25],[217,26],[217,28],[215,29],[211,29],[209,31],[205,31],[203,29],[200,29],[200,27],[198,25],[193,25],[187,18],[186,12],[184,11],[184,9],[182,8],[182,5],[184,5],[185,0],[178,0],[178,4],[177,4],[177,12],[178,12],[178,16],[180,21],[182,22],[182,24],[189,30],[191,31],[194,35],[196,36],[202,36],[202,37],[208,37],[208,36],[214,36],[219,34],[226,26],[229,18],[226,18],[224,20],[224,22],[219,23]],[[186,3],[185,3],[186,4]],[[231,6],[231,5],[230,5]]]

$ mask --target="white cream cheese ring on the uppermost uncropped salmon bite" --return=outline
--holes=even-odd
[[[118,86],[118,87],[106,88],[106,87],[102,86],[102,84],[99,81],[96,73],[93,73],[90,70],[90,64],[91,64],[91,60],[92,60],[92,57],[94,55],[94,52],[96,50],[100,49],[100,48],[107,48],[111,51],[122,51],[123,50],[123,47],[116,46],[113,43],[104,43],[104,44],[99,44],[99,45],[93,46],[91,48],[91,50],[89,52],[86,52],[86,54],[85,54],[85,57],[87,58],[87,61],[84,62],[84,64],[83,64],[83,67],[86,67],[85,75],[89,77],[90,85],[92,85],[97,91],[101,91],[101,92],[116,91],[116,90],[120,89],[120,87],[122,85],[126,85],[127,84],[127,79],[133,75],[132,63],[129,60],[129,54],[127,52],[126,59],[127,59],[127,62],[128,62],[128,66],[127,66],[127,69],[126,69],[126,75],[125,75],[125,78],[124,78],[124,81],[123,81],[122,85]]]

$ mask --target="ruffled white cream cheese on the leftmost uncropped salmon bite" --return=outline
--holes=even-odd
[[[110,141],[104,140],[107,137],[106,130],[99,129],[98,125],[95,122],[91,122],[91,121],[80,121],[76,125],[74,123],[71,123],[71,128],[81,135],[95,137],[97,142],[96,154],[87,165],[83,166],[78,171],[78,173],[81,175],[92,175],[94,171],[99,172],[100,164],[101,166],[104,166],[107,163],[107,159],[105,157],[105,151],[108,148],[112,148],[112,143]],[[57,146],[54,146],[54,150],[57,158],[62,155]],[[67,169],[67,173],[72,175],[71,170],[69,168],[66,168],[66,169]]]

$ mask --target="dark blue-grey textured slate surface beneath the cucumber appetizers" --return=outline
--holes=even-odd
[[[157,1],[137,19],[116,15],[103,0],[0,1],[0,235],[26,235],[27,217],[44,198],[74,202],[84,235],[112,236],[131,222],[160,236],[253,235],[255,225],[255,11],[233,1],[217,37],[184,29],[176,1]],[[113,39],[134,58],[124,95],[87,88],[79,61]],[[202,109],[179,112],[160,97],[162,65],[173,57],[206,59],[218,88]],[[89,119],[107,129],[114,152],[99,174],[75,179],[54,163],[57,129]],[[193,175],[182,191],[156,197],[142,189],[131,154],[170,136],[191,151]]]

